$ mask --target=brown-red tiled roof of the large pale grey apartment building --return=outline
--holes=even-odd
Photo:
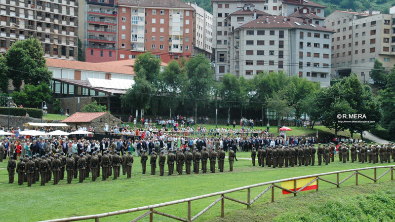
[[[269,22],[266,22],[266,18],[269,18]],[[287,19],[287,21],[284,22],[284,18]],[[288,21],[289,19],[289,21]],[[295,22],[297,22],[300,25],[297,25]],[[315,27],[314,27],[315,26]],[[248,22],[237,29],[240,28],[288,28],[288,29],[308,29],[308,30],[316,30],[316,31],[324,31],[324,32],[333,32],[332,30],[326,29],[321,26],[317,25],[310,25],[310,24],[304,24],[303,19],[300,18],[293,18],[293,17],[284,17],[284,16],[262,16],[258,19],[255,19],[251,22]]]

